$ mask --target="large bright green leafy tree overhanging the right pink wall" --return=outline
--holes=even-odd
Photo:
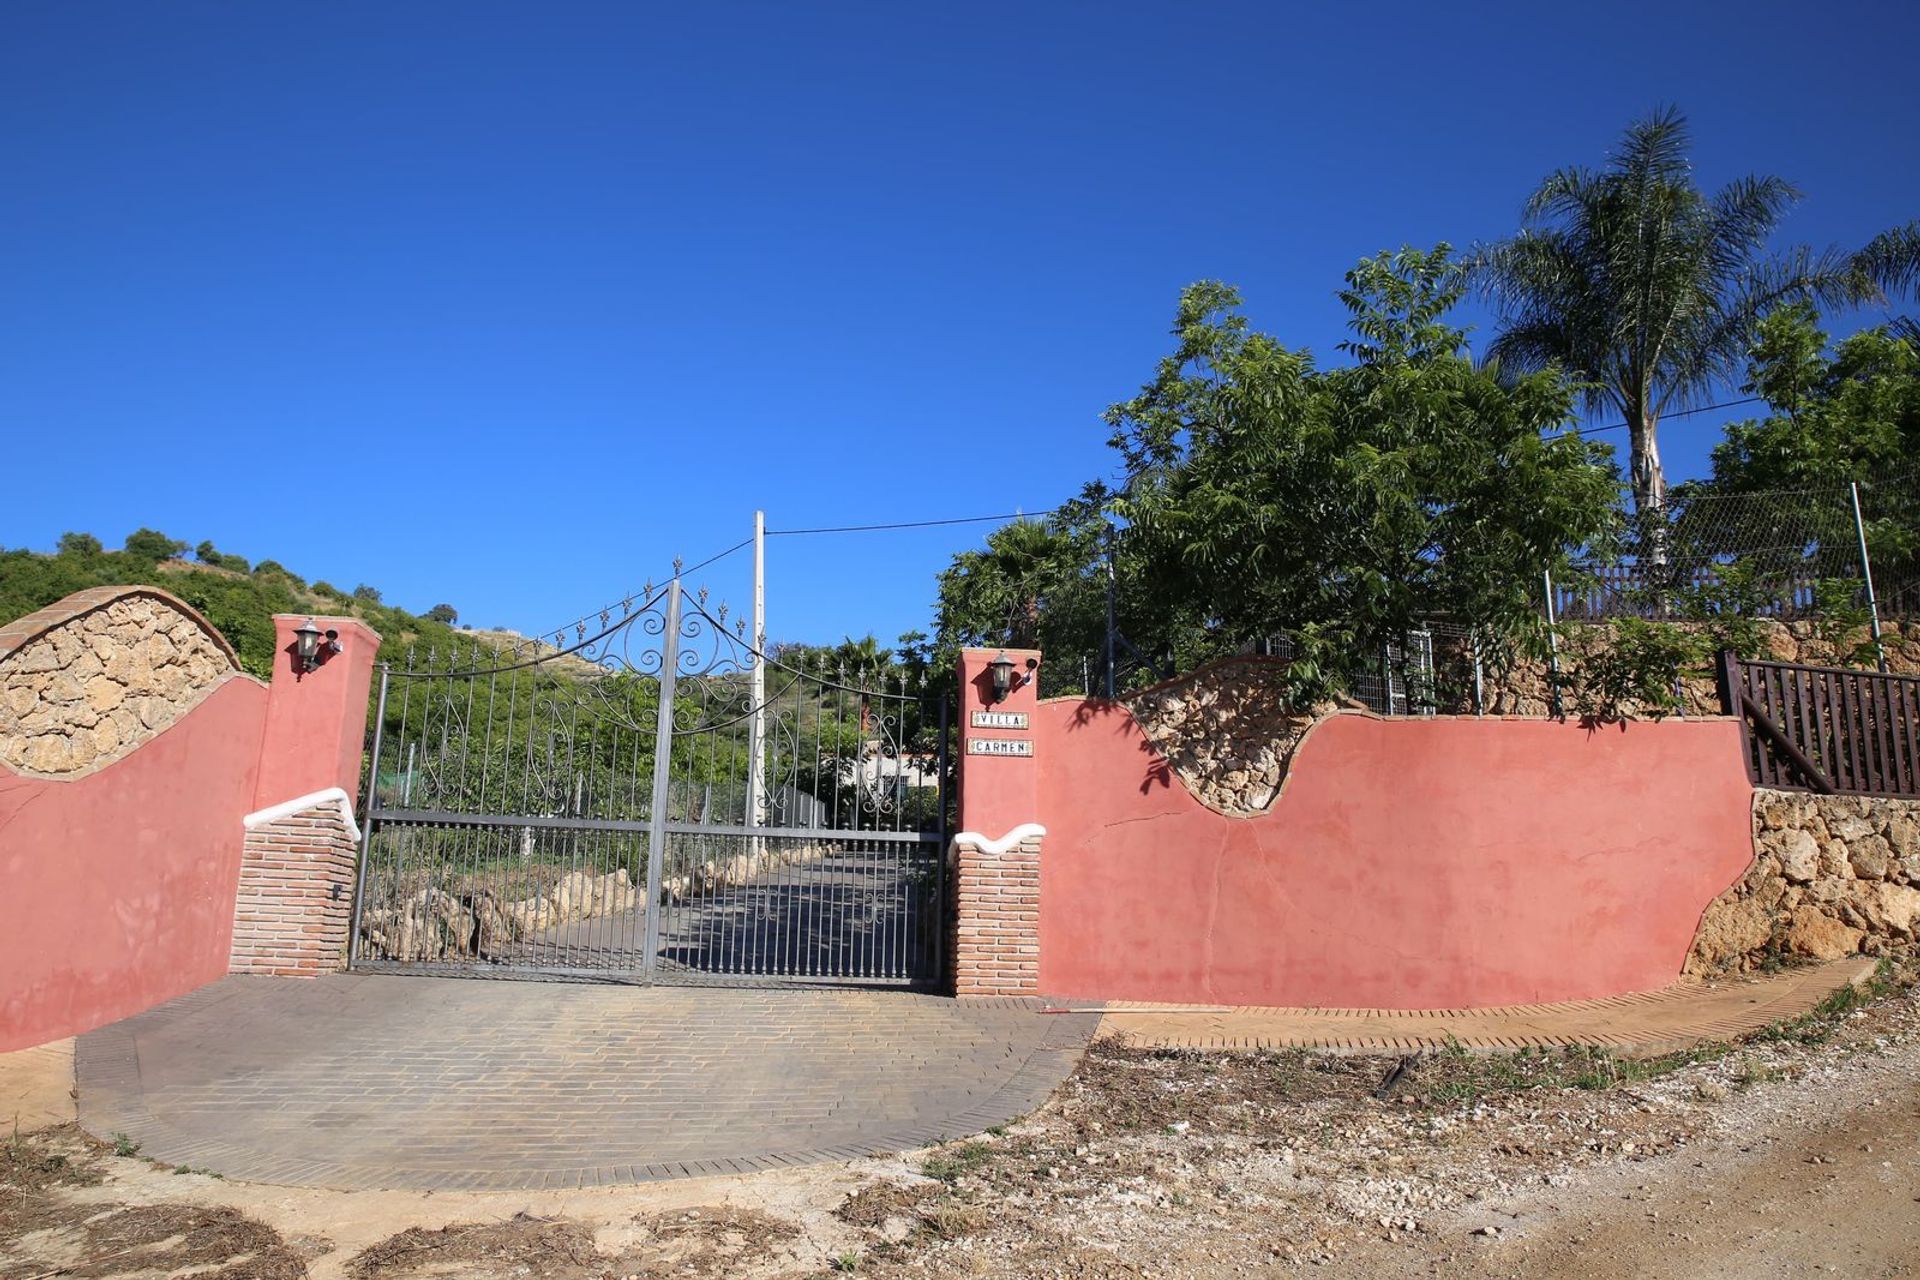
[[[1569,430],[1557,370],[1478,368],[1448,315],[1465,290],[1448,246],[1363,261],[1340,294],[1352,367],[1252,332],[1238,294],[1181,299],[1175,353],[1110,413],[1127,480],[1125,572],[1215,651],[1288,629],[1304,693],[1423,620],[1490,635],[1536,628],[1534,581],[1609,533],[1609,451]]]

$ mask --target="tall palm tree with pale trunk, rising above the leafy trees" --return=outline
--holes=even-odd
[[[1663,107],[1626,130],[1605,169],[1548,177],[1521,232],[1478,253],[1503,324],[1488,357],[1515,372],[1559,365],[1588,384],[1588,413],[1626,418],[1636,510],[1667,499],[1661,415],[1730,382],[1761,315],[1795,297],[1851,305],[1876,294],[1843,251],[1770,251],[1797,200],[1763,175],[1703,194],[1686,117]],[[1897,253],[1887,261],[1897,273]]]

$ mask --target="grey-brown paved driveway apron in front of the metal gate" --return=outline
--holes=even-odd
[[[518,1190],[879,1155],[1035,1109],[1096,1015],[856,990],[230,977],[79,1040],[81,1123],[338,1188]]]

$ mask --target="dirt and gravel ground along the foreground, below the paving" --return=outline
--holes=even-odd
[[[244,1188],[56,1128],[0,1142],[0,1276],[1920,1274],[1912,983],[1653,1061],[1102,1042],[1002,1132],[572,1197]]]

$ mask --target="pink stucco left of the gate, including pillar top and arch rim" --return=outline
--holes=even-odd
[[[165,591],[94,587],[0,628],[0,656],[121,595],[198,618]],[[303,620],[275,618],[271,687],[232,674],[106,768],[33,777],[0,764],[0,1052],[225,975],[246,816],[326,787],[355,793],[380,637],[353,618],[321,618],[344,652],[298,672]]]

